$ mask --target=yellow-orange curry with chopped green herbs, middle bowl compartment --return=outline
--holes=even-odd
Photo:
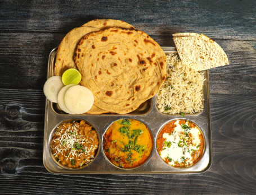
[[[145,162],[152,151],[152,134],[138,120],[116,120],[103,138],[106,157],[119,168],[136,168]]]

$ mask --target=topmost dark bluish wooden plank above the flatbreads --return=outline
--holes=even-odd
[[[150,35],[200,32],[213,39],[256,40],[255,7],[254,0],[4,1],[0,29],[66,33],[95,18],[113,18]]]

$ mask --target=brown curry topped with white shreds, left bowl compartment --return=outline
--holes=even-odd
[[[60,125],[52,136],[52,154],[61,165],[68,168],[82,168],[92,161],[97,148],[97,133],[83,120]]]

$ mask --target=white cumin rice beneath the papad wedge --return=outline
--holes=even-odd
[[[166,114],[193,114],[203,110],[204,72],[185,66],[178,53],[167,55],[167,78],[156,96]]]

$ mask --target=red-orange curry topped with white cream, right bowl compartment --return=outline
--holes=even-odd
[[[203,155],[203,133],[189,120],[173,120],[158,134],[156,147],[168,165],[176,168],[192,166]]]

